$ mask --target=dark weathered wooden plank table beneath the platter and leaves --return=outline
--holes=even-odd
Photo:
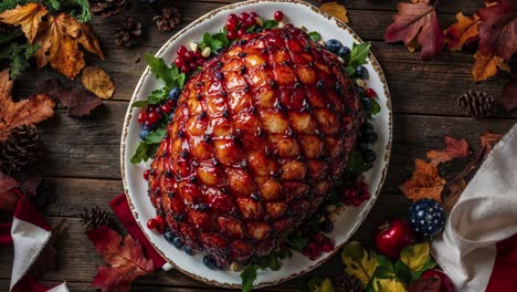
[[[94,115],[72,118],[65,109],[57,108],[57,115],[41,125],[45,143],[45,157],[41,164],[45,184],[57,189],[55,204],[44,210],[51,223],[66,218],[66,230],[60,243],[59,267],[46,273],[44,282],[67,281],[71,291],[91,291],[89,283],[96,267],[103,263],[92,243],[83,232],[78,213],[83,207],[99,206],[108,209],[108,201],[123,191],[119,166],[119,143],[124,115],[133,90],[146,64],[144,53],[155,53],[175,32],[162,33],[154,25],[151,18],[134,1],[133,10],[126,15],[138,18],[145,28],[143,45],[126,49],[115,45],[114,29],[122,17],[115,19],[95,18],[93,24],[99,36],[105,61],[89,56],[88,64],[104,67],[116,83],[115,96]],[[183,13],[181,28],[230,0],[175,1]],[[312,1],[317,4],[316,1]],[[467,117],[456,106],[456,97],[465,90],[482,90],[500,101],[506,79],[499,77],[481,84],[472,81],[471,69],[474,59],[471,53],[445,52],[434,61],[423,62],[418,53],[410,53],[403,44],[386,44],[382,34],[395,13],[397,0],[346,0],[350,27],[363,39],[371,41],[373,53],[379,60],[390,86],[394,112],[394,136],[390,169],[383,191],[373,210],[355,234],[355,239],[371,242],[372,230],[381,221],[404,216],[408,200],[397,186],[413,169],[413,159],[423,158],[425,150],[442,147],[442,136],[449,134],[464,137],[475,148],[478,135],[490,128],[505,133],[517,121],[517,114],[503,113],[500,106],[496,117],[475,119]],[[443,1],[437,10],[444,25],[454,22],[454,13],[472,14],[483,1]],[[515,66],[514,66],[515,67]],[[51,70],[41,70],[22,75],[15,83],[15,94],[25,96],[38,81],[50,76],[64,77]],[[65,82],[70,84],[70,82]],[[454,167],[445,169],[456,171]],[[0,290],[9,286],[12,250],[0,251]],[[308,275],[288,281],[268,291],[303,291],[310,275],[331,275],[342,272],[338,258],[328,261]],[[191,280],[178,271],[158,272],[135,281],[133,291],[220,291]]]

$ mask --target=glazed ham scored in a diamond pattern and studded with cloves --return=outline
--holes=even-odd
[[[245,35],[184,86],[149,196],[191,249],[264,255],[318,209],[363,121],[337,56],[299,29]]]

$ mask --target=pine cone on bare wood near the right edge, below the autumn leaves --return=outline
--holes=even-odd
[[[485,117],[494,111],[494,98],[485,92],[467,91],[457,97],[457,106],[469,116]]]

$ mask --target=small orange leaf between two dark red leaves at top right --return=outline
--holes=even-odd
[[[478,39],[479,30],[477,24],[479,24],[479,17],[474,14],[473,18],[467,18],[463,12],[456,13],[457,22],[451,25],[445,31],[445,34],[449,38],[449,50],[458,51],[462,50],[462,46],[466,43],[475,41]]]

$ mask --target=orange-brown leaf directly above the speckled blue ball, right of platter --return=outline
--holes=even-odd
[[[442,190],[445,179],[440,176],[439,169],[422,159],[414,160],[414,171],[411,179],[399,186],[399,189],[410,200],[431,198],[442,202]]]

